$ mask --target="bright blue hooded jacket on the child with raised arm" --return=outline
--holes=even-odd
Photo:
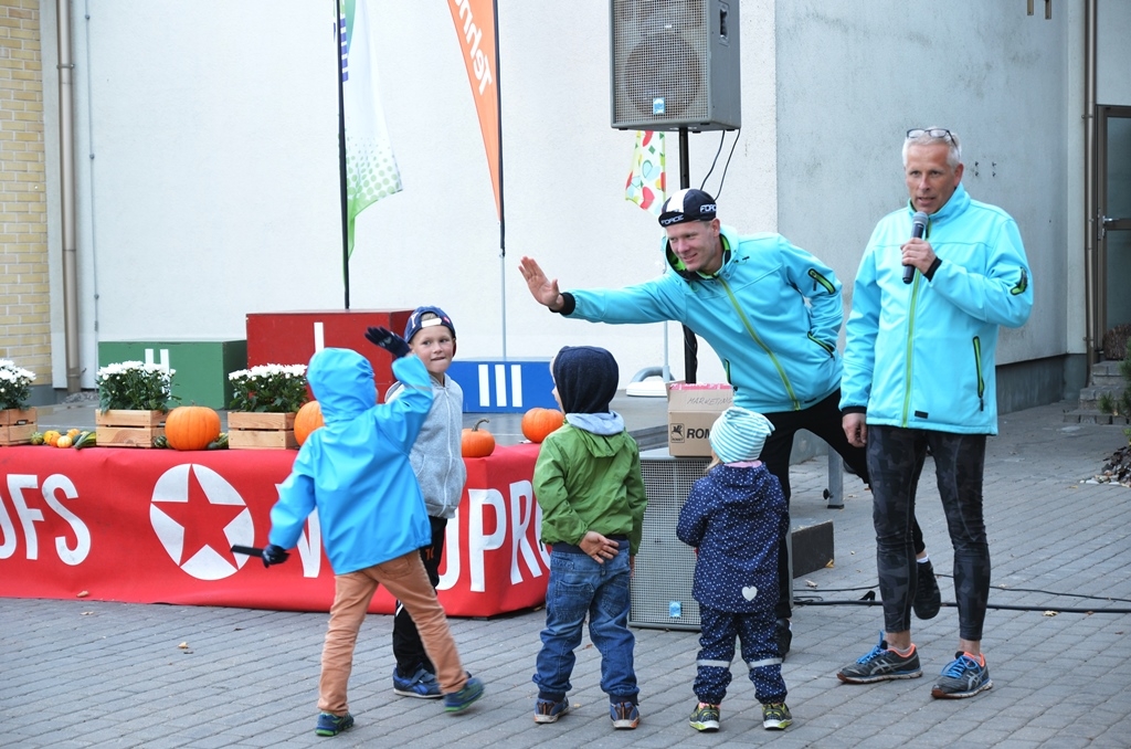
[[[378,405],[373,368],[361,354],[323,348],[307,379],[326,425],[311,432],[271,508],[268,540],[284,549],[299,541],[318,508],[326,556],[336,575],[396,559],[432,542],[420,485],[408,463],[432,406],[424,363],[409,354],[392,362],[404,391]]]

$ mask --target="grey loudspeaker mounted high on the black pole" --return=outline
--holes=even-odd
[[[742,127],[740,0],[610,0],[612,127]]]

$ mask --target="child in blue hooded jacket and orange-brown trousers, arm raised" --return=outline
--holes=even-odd
[[[483,695],[483,683],[464,671],[417,551],[432,533],[408,451],[432,406],[429,373],[418,358],[407,355],[400,336],[369,328],[365,337],[394,355],[392,372],[404,393],[379,405],[373,368],[361,354],[346,348],[314,354],[307,379],[325,425],[303,444],[279,487],[270,543],[264,549],[264,565],[285,561],[284,550],[297,543],[307,517],[318,510],[335,574],[318,686],[318,735],[336,735],[354,724],[346,687],[357,631],[379,584],[416,622],[437,668],[444,709],[460,712]]]

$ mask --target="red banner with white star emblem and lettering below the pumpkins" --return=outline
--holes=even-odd
[[[0,596],[329,611],[334,571],[312,514],[291,559],[262,546],[293,450],[0,449]],[[450,615],[541,605],[549,556],[530,476],[537,445],[467,459],[438,594]],[[383,588],[372,613],[392,613]]]

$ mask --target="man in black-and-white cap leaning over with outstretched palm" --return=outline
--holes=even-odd
[[[774,424],[762,460],[789,501],[789,453],[798,429],[817,434],[867,483],[864,450],[840,428],[840,354],[844,319],[840,282],[832,269],[780,234],[740,235],[716,217],[715,199],[680,190],[664,201],[659,250],[664,275],[623,289],[561,292],[533,258],[519,269],[530,294],[552,312],[592,322],[674,320],[702,336],[718,354],[737,406]],[[785,533],[780,539],[785,549]],[[934,575],[929,584],[935,586]],[[789,559],[778,556],[777,640],[789,651],[793,580]],[[930,599],[930,595],[926,596]],[[933,610],[938,612],[938,597]],[[918,606],[920,611],[924,606]]]

